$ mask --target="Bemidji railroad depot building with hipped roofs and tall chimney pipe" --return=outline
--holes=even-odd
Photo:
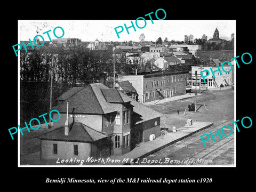
[[[149,140],[150,134],[160,133],[161,114],[101,83],[70,89],[59,101],[53,109],[59,111],[60,119],[53,122],[52,131],[38,137],[41,159],[123,155]]]

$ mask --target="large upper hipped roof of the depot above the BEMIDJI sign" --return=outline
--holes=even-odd
[[[108,114],[117,111],[111,103],[130,102],[130,100],[121,97],[117,90],[109,89],[101,83],[90,84],[81,89],[68,90],[59,98],[63,101],[53,109],[60,113],[67,113],[67,102],[69,102],[68,113],[74,114]]]

